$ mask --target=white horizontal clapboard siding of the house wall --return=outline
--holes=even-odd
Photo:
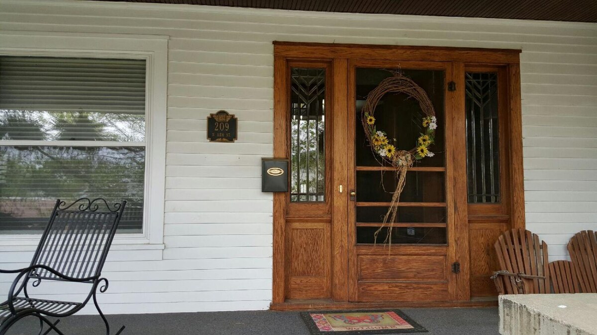
[[[60,0],[4,1],[0,24],[170,36],[163,260],[161,250],[114,250],[100,297],[108,313],[269,305],[272,196],[260,192],[260,163],[273,151],[276,40],[522,49],[527,227],[553,259],[571,234],[597,229],[595,24]],[[235,144],[207,141],[206,117],[220,109],[239,119]],[[2,252],[0,266],[29,255]]]

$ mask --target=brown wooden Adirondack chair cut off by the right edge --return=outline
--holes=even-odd
[[[597,232],[577,232],[568,242],[568,252],[583,293],[597,293]]]

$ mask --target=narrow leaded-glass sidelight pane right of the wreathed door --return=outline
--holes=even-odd
[[[500,203],[496,72],[467,72],[466,173],[469,203]]]

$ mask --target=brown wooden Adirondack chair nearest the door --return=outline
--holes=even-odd
[[[525,229],[504,232],[494,244],[500,271],[491,277],[499,294],[550,293],[547,244]]]

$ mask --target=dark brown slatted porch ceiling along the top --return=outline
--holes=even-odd
[[[273,8],[343,13],[408,14],[597,22],[595,0],[108,0]]]

